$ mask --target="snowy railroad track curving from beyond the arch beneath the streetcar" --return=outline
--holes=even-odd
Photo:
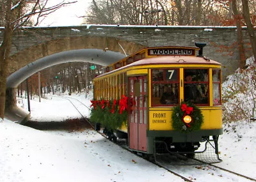
[[[77,100],[76,98],[70,98],[67,96],[61,96],[61,98],[65,98],[65,99],[69,100],[69,102],[72,103],[72,105],[76,108],[77,112],[79,112],[79,114],[81,114],[81,112],[76,107],[74,102],[72,102],[72,100],[76,100],[76,102],[79,102],[80,104],[83,104],[83,105],[84,105],[84,103]],[[84,105],[84,107],[86,107],[87,109],[90,109],[86,105]],[[81,114],[81,116],[88,123],[90,123],[89,119],[84,117],[83,114]],[[92,123],[90,123],[90,125],[92,126],[92,128],[94,128]],[[108,137],[106,135],[104,135],[103,132],[98,131],[98,133],[100,135],[102,135],[103,137],[105,137],[106,139],[108,139]],[[118,144],[118,142],[115,142],[115,143]],[[131,151],[129,148],[125,147],[124,145],[118,144],[118,146],[135,154],[133,151]],[[140,154],[136,154],[136,155],[139,156],[140,158],[143,158],[143,156]],[[145,160],[147,160],[147,159],[145,159]],[[194,160],[194,159],[188,158],[188,160]],[[147,161],[150,163],[154,163],[155,165],[157,165],[163,169],[166,169],[166,171],[171,172],[175,176],[178,176],[179,178],[184,179],[184,181],[191,181],[191,182],[192,181],[200,181],[200,177],[198,177],[198,176],[204,176],[204,179],[205,179],[205,175],[209,175],[209,178],[211,177],[211,181],[225,181],[225,182],[226,181],[256,181],[256,179],[250,178],[248,176],[244,176],[243,174],[239,174],[237,172],[230,171],[228,169],[224,169],[222,167],[218,167],[217,165],[208,164],[208,163],[205,163],[204,165],[189,165],[189,166],[186,166],[186,165],[177,166],[176,165],[175,166],[172,164],[168,165],[166,163],[159,163],[159,162],[156,162],[155,160],[148,159]],[[204,163],[204,162],[202,162],[202,163]],[[186,174],[184,174],[184,172],[180,172],[180,171],[186,171],[185,172]],[[193,174],[188,175],[188,171],[193,171],[194,173],[196,173],[196,176],[193,176]]]

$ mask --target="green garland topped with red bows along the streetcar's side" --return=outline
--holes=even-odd
[[[127,125],[128,98],[122,96],[120,100],[91,100],[92,109],[90,120],[93,123],[100,123],[108,130],[120,128],[123,123]],[[132,102],[131,102],[132,103]],[[131,105],[132,106],[132,105]]]

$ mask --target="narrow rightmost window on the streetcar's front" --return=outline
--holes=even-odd
[[[220,98],[220,70],[212,69],[212,103],[213,105],[221,105]]]

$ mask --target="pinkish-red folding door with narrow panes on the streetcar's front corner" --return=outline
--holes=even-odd
[[[135,94],[140,84],[139,95]],[[147,151],[147,77],[129,77],[129,148]]]

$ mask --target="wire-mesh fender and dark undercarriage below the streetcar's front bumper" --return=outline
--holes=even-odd
[[[170,139],[169,139],[170,140]],[[219,157],[218,151],[218,135],[205,137],[202,142],[177,142],[170,143],[165,140],[154,141],[154,159],[156,162],[166,162],[166,154],[170,158],[179,158],[182,161],[186,158],[193,158],[195,160],[186,160],[185,163],[180,163],[180,160],[169,160],[173,165],[195,165],[201,163],[218,163],[222,160]]]

